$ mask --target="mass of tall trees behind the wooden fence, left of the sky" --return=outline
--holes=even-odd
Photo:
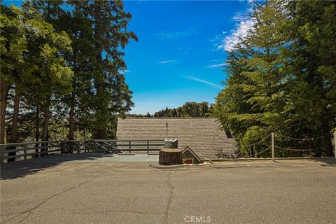
[[[1,143],[113,138],[133,106],[131,18],[123,1],[1,3]]]

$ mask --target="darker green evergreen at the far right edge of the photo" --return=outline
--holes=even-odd
[[[288,58],[284,67],[291,76],[291,106],[295,118],[314,124],[323,135],[325,155],[332,155],[330,132],[336,127],[336,3],[290,1],[287,9],[290,21],[285,28],[290,45],[284,52]]]

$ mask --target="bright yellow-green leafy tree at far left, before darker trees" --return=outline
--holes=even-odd
[[[50,103],[52,94],[64,94],[71,90],[69,80],[71,80],[72,71],[66,66],[61,54],[71,50],[71,41],[65,32],[55,32],[52,25],[36,16],[38,14],[31,18],[29,11],[3,5],[1,5],[1,12],[1,46],[3,46],[1,48],[1,93],[3,92],[1,98],[4,97],[1,111],[6,110],[6,95],[9,88],[13,86],[15,97],[10,142],[17,142],[22,97],[29,102],[31,99],[29,93],[38,92],[41,102],[47,105]],[[2,120],[3,114],[1,116]],[[3,134],[4,132],[1,131],[1,141],[3,141]]]

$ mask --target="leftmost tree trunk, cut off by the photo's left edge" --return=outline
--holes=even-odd
[[[0,144],[5,143],[5,118],[10,83],[0,81]]]

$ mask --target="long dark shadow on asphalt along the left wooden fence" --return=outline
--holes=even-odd
[[[0,179],[17,179],[27,175],[35,174],[36,172],[42,171],[49,167],[55,167],[68,161],[93,161],[102,157],[113,155],[102,155],[102,154],[54,154],[47,155],[41,158],[32,158],[30,160],[22,160],[17,162],[8,162],[1,164],[1,174]]]

